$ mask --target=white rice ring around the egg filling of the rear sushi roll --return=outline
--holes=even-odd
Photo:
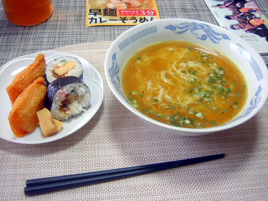
[[[69,70],[68,73],[65,74],[65,76],[75,76],[80,77],[83,74],[83,68],[81,62],[74,57],[59,57],[57,59],[54,59],[53,61],[49,62],[46,66],[46,80],[51,83],[57,78],[54,77],[52,71],[54,70],[54,66],[56,66],[60,61],[66,60],[66,63],[73,61],[75,63],[75,66],[73,69]]]

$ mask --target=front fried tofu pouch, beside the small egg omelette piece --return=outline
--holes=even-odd
[[[44,78],[39,77],[22,91],[15,100],[8,120],[15,136],[21,138],[32,133],[38,125],[36,112],[44,108],[46,86]]]

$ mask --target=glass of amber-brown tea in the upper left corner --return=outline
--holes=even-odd
[[[51,0],[1,0],[7,19],[29,26],[45,21],[52,13]]]

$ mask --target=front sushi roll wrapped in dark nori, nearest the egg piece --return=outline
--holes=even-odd
[[[89,88],[79,78],[60,77],[48,85],[45,106],[54,119],[66,120],[85,112],[90,100]]]

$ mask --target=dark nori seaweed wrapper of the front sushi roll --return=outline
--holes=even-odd
[[[46,96],[44,101],[45,107],[50,111],[57,91],[59,91],[60,88],[73,83],[83,83],[83,82],[75,76],[59,77],[58,79],[51,82],[46,90]],[[85,86],[88,87],[87,85]]]

